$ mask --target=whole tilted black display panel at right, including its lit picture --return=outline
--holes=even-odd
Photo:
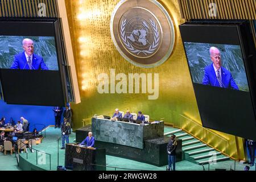
[[[253,37],[245,31],[248,26],[191,22],[180,25],[180,32],[203,126],[256,139],[255,80],[245,39],[253,42]]]

